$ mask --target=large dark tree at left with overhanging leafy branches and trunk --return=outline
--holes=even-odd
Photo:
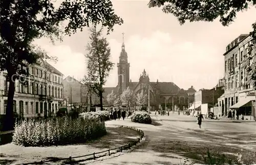
[[[35,39],[61,40],[63,34],[71,35],[77,29],[89,27],[90,23],[102,23],[110,32],[114,25],[123,22],[114,13],[110,0],[63,0],[59,5],[54,0],[4,0],[0,1],[0,20],[0,69],[7,70],[8,81],[28,74],[27,66],[37,59],[51,59],[33,44]],[[13,124],[14,89],[15,81],[10,81],[8,125]]]

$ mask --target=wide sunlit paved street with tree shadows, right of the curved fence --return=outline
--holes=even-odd
[[[233,123],[228,120],[204,120],[200,129],[196,117],[178,115],[152,116],[158,126],[126,121],[108,121],[107,125],[129,125],[144,130],[145,143],[131,153],[92,164],[181,164],[202,161],[206,148],[225,153],[230,159],[238,152],[256,150],[255,122]]]

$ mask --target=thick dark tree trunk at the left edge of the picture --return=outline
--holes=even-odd
[[[13,80],[14,79],[14,80]],[[14,113],[13,113],[13,98],[15,91],[15,78],[9,79],[9,90],[8,90],[8,99],[7,99],[7,108],[6,108],[6,117],[4,123],[4,130],[13,130],[14,128]]]

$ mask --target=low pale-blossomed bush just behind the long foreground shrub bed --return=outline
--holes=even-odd
[[[110,112],[107,110],[96,111],[96,112],[83,112],[80,113],[81,117],[85,117],[87,119],[100,119],[101,121],[110,120]]]

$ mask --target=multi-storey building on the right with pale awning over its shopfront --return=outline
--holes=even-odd
[[[224,115],[229,109],[244,115],[247,120],[255,120],[255,92],[247,83],[248,65],[251,65],[248,46],[255,41],[248,34],[242,34],[226,47],[225,93],[219,98],[219,106]]]

